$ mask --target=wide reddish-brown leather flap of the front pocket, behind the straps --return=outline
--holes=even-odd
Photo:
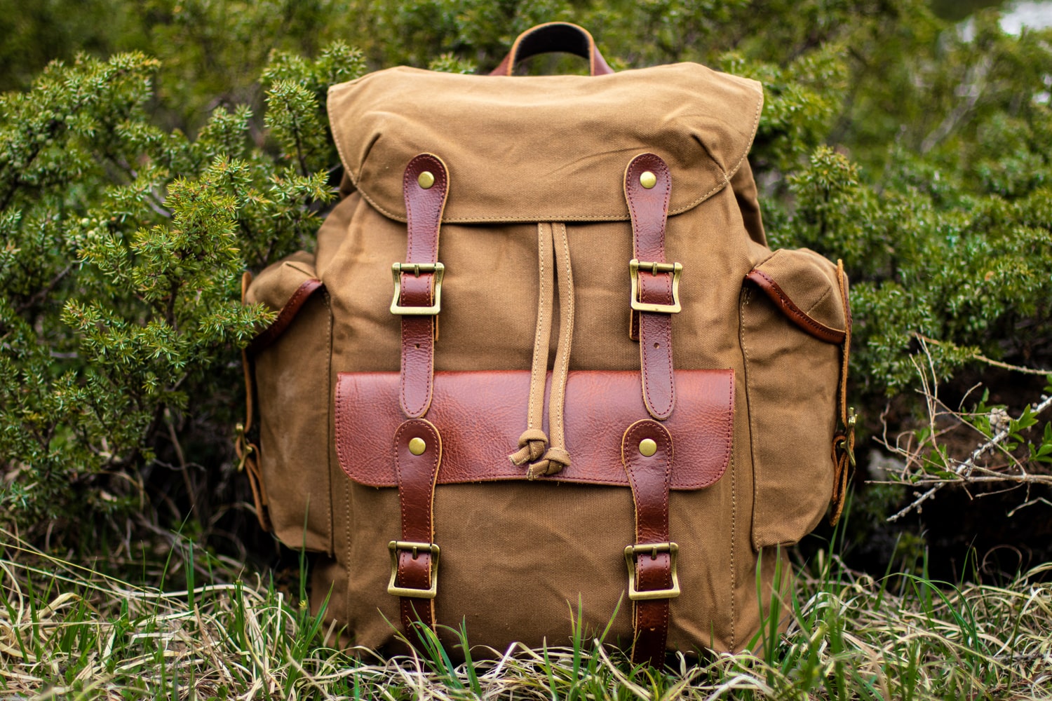
[[[550,377],[550,374],[549,374]],[[732,370],[680,370],[680,408],[666,422],[676,435],[680,459],[671,488],[695,490],[714,483],[730,461],[734,420]],[[525,479],[508,460],[526,422],[527,370],[438,372],[429,420],[442,433],[439,483]],[[550,385],[550,382],[549,382]],[[558,475],[539,479],[628,486],[622,466],[625,427],[645,416],[632,371],[571,371],[566,383],[566,449],[573,461]],[[340,373],[336,389],[337,454],[357,482],[393,487],[389,436],[402,421],[393,372]],[[385,459],[386,458],[386,459]]]

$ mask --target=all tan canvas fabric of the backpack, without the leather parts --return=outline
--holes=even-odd
[[[804,316],[846,327],[835,267],[810,251],[772,254],[765,245],[745,161],[761,104],[757,83],[693,64],[595,78],[394,68],[333,86],[329,114],[348,180],[316,255],[291,262],[324,283],[325,294],[263,351],[269,356],[257,357],[256,383],[269,436],[261,446],[264,479],[270,500],[286,501],[271,508],[278,537],[302,544],[309,495],[307,547],[328,553],[313,571],[312,605],[329,597],[326,615],[346,626],[348,642],[389,645],[399,620],[399,599],[386,592],[387,542],[400,533],[398,491],[356,483],[340,470],[332,391],[340,372],[399,370],[390,268],[406,255],[406,164],[430,152],[449,172],[437,371],[530,369],[539,223],[566,225],[575,307],[570,371],[639,371],[640,350],[629,337],[632,231],[623,179],[629,161],[650,151],[671,171],[666,257],[684,266],[683,311],[672,317],[674,367],[731,369],[735,378],[727,471],[711,487],[671,495],[682,595],[670,603],[668,644],[737,651],[755,643],[775,562],[784,559],[772,547],[798,540],[829,501],[842,377],[839,346],[802,330],[800,318],[791,321],[746,276],[758,266]],[[291,285],[284,298],[264,288],[268,275],[290,275],[288,265],[261,274],[249,301],[281,309]],[[552,312],[558,330],[558,303]],[[555,338],[553,331],[549,364]],[[524,429],[527,401],[523,396]],[[621,436],[596,439],[620,446]],[[567,449],[572,455],[573,446]],[[465,620],[473,643],[499,652],[512,641],[565,644],[579,599],[592,631],[622,600],[622,551],[634,541],[627,488],[561,483],[558,476],[441,484],[433,514],[442,548],[438,622]],[[622,600],[611,639],[630,644],[631,636],[631,606]]]

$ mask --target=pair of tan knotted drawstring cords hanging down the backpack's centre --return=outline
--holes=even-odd
[[[554,266],[552,265],[554,248]],[[570,346],[573,341],[573,270],[570,264],[570,247],[566,236],[566,225],[538,225],[538,259],[540,267],[540,296],[538,301],[537,333],[533,343],[533,365],[530,372],[529,409],[527,428],[519,438],[520,450],[510,455],[515,465],[529,462],[526,477],[558,474],[570,465],[570,454],[566,450],[564,407],[566,404],[566,378],[569,374]],[[551,373],[551,396],[548,398],[548,424],[551,441],[542,430],[544,419],[544,390],[548,372],[548,347],[551,335],[552,267],[559,280],[559,344],[555,347],[555,363]]]

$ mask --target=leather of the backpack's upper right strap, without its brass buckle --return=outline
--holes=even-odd
[[[640,184],[640,174],[647,170],[658,178],[656,184],[650,189]],[[639,261],[665,263],[665,223],[671,191],[672,177],[660,157],[642,153],[628,164],[625,171],[625,199],[632,218],[632,251]],[[641,269],[639,280],[640,302],[672,304],[672,273],[660,272],[655,275]],[[638,329],[640,366],[643,368],[643,400],[651,416],[665,420],[675,408],[672,315],[639,312]]]

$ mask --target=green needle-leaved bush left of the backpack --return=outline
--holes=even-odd
[[[0,102],[0,518],[29,532],[141,506],[151,466],[186,473],[210,511],[194,465],[228,451],[181,442],[226,442],[232,351],[266,321],[241,306],[241,272],[317,229],[324,88],[362,70],[345,44],[276,56],[270,154],[246,106],[217,108],[196,141],[154,125],[158,67],[56,63]]]

